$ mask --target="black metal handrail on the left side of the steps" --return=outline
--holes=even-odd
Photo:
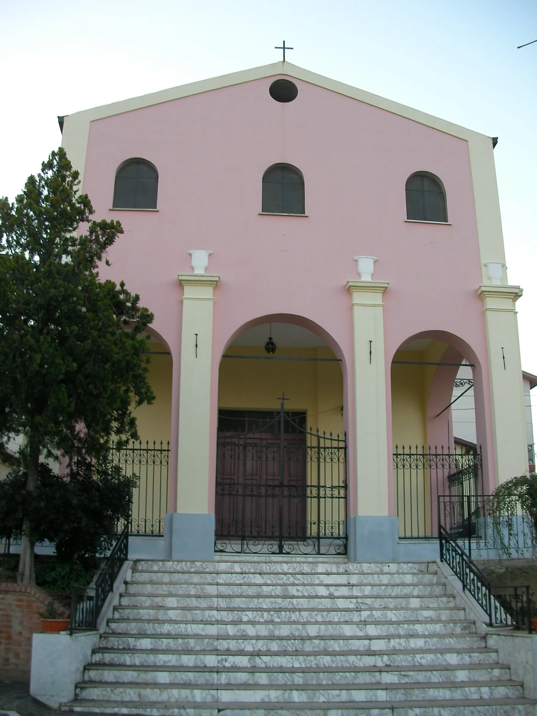
[[[97,619],[108,595],[114,589],[117,575],[129,556],[129,523],[110,552],[105,569],[89,587],[73,586],[71,589],[71,624],[69,634],[75,631],[97,629]]]

